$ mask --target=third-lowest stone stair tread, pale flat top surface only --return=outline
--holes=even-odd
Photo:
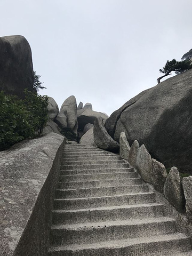
[[[150,206],[160,206],[163,204],[158,203],[148,203],[148,204],[131,204],[131,205],[117,205],[117,206],[102,206],[102,207],[94,207],[88,209],[73,209],[73,210],[53,210],[53,212],[57,213],[66,213],[66,212],[91,212],[91,211],[102,211],[102,210],[113,210],[113,209],[131,209],[137,207],[150,207]]]

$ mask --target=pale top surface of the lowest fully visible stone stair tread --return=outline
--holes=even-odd
[[[111,240],[107,242],[100,243],[90,243],[90,244],[72,244],[66,246],[54,246],[50,248],[50,251],[62,251],[62,250],[83,250],[83,249],[99,249],[103,247],[107,248],[117,248],[117,247],[128,247],[135,244],[147,244],[153,242],[164,242],[164,241],[175,241],[178,239],[186,239],[189,236],[186,236],[182,233],[172,233],[158,236],[150,236],[150,237],[140,237],[138,238],[128,238],[128,239],[119,239],[119,240]]]

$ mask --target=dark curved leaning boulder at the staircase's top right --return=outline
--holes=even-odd
[[[113,138],[111,138],[108,132],[106,131],[102,117],[97,117],[95,119],[93,126],[93,134],[94,142],[99,148],[111,152],[119,151],[119,144]]]

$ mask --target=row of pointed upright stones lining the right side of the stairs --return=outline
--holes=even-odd
[[[124,132],[120,135],[119,145],[119,155],[129,161],[141,178],[163,194],[178,212],[186,212],[192,220],[192,176],[181,179],[177,167],[172,167],[167,174],[165,166],[151,158],[145,145],[140,146],[135,140],[130,147]]]

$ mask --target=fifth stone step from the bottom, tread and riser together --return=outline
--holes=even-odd
[[[148,185],[130,185],[116,187],[99,187],[99,188],[77,188],[61,189],[62,182],[59,182],[59,188],[56,190],[56,198],[84,198],[84,197],[102,197],[115,196],[124,194],[138,194],[149,192]]]

